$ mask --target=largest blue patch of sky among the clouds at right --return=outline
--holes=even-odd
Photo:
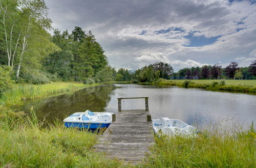
[[[203,45],[210,45],[217,41],[218,38],[221,36],[206,38],[204,36],[195,37],[193,34],[189,34],[188,36],[185,36],[190,41],[190,44],[184,45],[186,47],[199,47]]]

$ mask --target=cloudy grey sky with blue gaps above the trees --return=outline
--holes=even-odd
[[[256,60],[256,1],[46,0],[53,28],[89,30],[115,68]]]

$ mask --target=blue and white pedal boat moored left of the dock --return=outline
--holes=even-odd
[[[86,129],[108,128],[112,123],[112,115],[114,113],[92,112],[86,110],[85,112],[77,112],[63,122],[66,127],[77,127]]]

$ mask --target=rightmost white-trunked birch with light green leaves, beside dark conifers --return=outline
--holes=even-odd
[[[46,30],[51,29],[51,20],[47,17],[48,8],[42,0],[20,0],[21,21],[20,26],[20,54],[16,72],[18,81],[20,68],[26,58],[27,61],[37,56],[37,61],[41,56],[46,56],[58,50],[58,47],[50,42],[50,36]],[[47,54],[44,54],[47,52]],[[35,66],[36,62],[30,62]]]

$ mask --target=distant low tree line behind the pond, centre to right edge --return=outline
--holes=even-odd
[[[158,62],[135,71],[120,68],[115,75],[116,81],[151,82],[165,79],[256,79],[256,60],[249,67],[238,67],[231,62],[225,68],[219,65],[183,68],[174,72],[169,64]],[[194,77],[194,78],[193,78]],[[196,78],[195,78],[196,77]]]

